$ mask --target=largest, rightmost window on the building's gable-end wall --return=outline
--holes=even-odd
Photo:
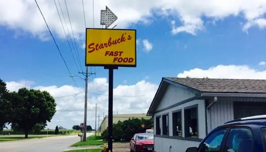
[[[199,137],[198,131],[198,105],[185,108],[185,137]]]

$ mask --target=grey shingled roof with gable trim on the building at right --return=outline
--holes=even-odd
[[[202,93],[266,94],[266,80],[264,79],[163,77],[147,114],[154,112],[169,84],[192,91],[197,96],[201,96]]]

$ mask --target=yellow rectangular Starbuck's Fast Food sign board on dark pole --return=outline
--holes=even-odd
[[[86,66],[136,67],[136,30],[86,28]]]

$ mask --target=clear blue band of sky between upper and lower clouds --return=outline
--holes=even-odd
[[[194,68],[208,69],[219,64],[250,65],[260,68],[258,63],[265,60],[266,30],[251,28],[243,32],[239,18],[231,17],[205,26],[197,35],[180,33],[172,35],[168,19],[158,19],[149,25],[133,25],[137,30],[137,67],[115,70],[116,85],[127,80],[134,84],[149,76],[149,81],[159,83],[162,76],[177,74]],[[5,81],[32,80],[36,85],[54,85],[71,81],[66,66],[52,40],[40,41],[25,34],[15,37],[12,30],[1,26],[0,45],[2,53],[1,78]],[[151,51],[144,52],[141,40],[148,39],[153,45]],[[78,70],[66,40],[57,38],[60,50],[73,75]],[[83,70],[85,51],[78,47]],[[93,71],[94,71],[93,67]],[[103,67],[96,68],[97,77],[107,77]],[[137,75],[136,75],[137,74]],[[71,84],[71,83],[70,83]],[[79,86],[81,83],[78,82]]]

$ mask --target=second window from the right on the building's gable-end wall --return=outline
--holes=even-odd
[[[172,113],[173,136],[182,136],[181,110]]]

